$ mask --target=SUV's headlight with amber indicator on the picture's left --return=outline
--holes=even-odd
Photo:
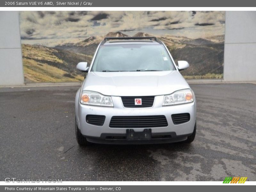
[[[83,91],[80,97],[80,102],[85,105],[113,107],[113,102],[110,96],[92,91]]]

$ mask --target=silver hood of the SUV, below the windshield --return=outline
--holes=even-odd
[[[111,96],[150,96],[189,88],[178,71],[136,71],[89,72],[82,90]]]

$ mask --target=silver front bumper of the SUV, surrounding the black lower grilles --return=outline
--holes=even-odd
[[[121,97],[112,96],[114,108],[98,107],[78,104],[76,111],[77,125],[81,133],[90,142],[95,143],[169,143],[186,140],[191,135],[196,122],[196,100],[192,103],[162,107],[164,96],[156,96],[153,107],[150,108],[124,108]],[[190,121],[175,125],[172,114],[189,113]],[[102,126],[88,124],[86,115],[104,115],[105,122]],[[153,138],[150,140],[127,140],[124,138],[127,128],[111,128],[109,123],[112,116],[155,116],[164,115],[168,122],[166,127],[150,128],[152,136],[169,135],[167,138]],[[134,132],[143,132],[147,128],[134,128]],[[115,136],[121,139],[116,139]],[[111,139],[112,138],[112,139]],[[123,139],[122,139],[123,138]]]

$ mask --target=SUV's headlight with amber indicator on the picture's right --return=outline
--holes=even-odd
[[[193,102],[193,94],[190,89],[176,91],[170,95],[164,95],[163,106],[177,105]]]

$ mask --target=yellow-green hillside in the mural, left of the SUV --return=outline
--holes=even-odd
[[[76,64],[90,57],[72,51],[22,44],[25,82],[82,81],[84,74],[76,70]]]

